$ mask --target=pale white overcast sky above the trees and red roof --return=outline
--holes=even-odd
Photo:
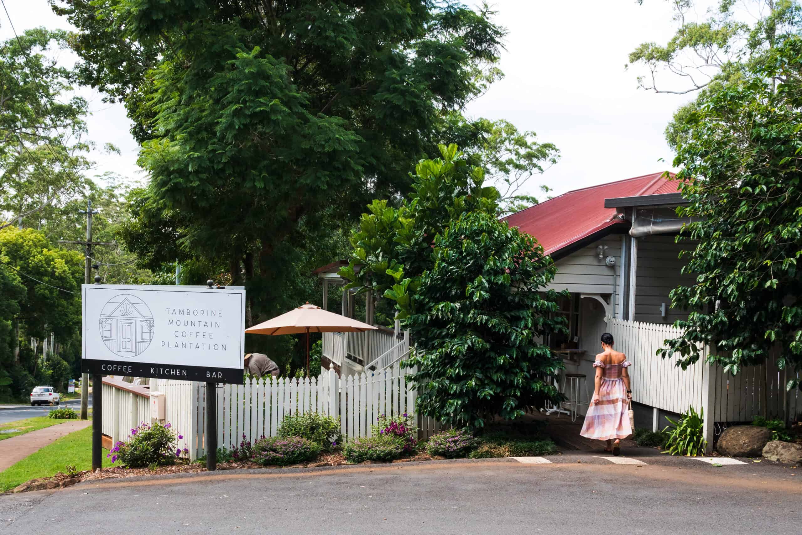
[[[46,0],[5,0],[18,32],[35,26],[71,29]],[[530,180],[526,193],[544,197],[538,184],[559,195],[576,188],[646,175],[671,167],[673,154],[663,131],[677,107],[693,95],[654,94],[638,89],[642,71],[625,68],[627,55],[646,41],[665,43],[674,33],[670,3],[646,0],[496,0],[496,22],[508,29],[501,55],[504,79],[469,104],[472,118],[506,119],[521,131],[561,151],[561,160]],[[704,12],[699,12],[703,18]],[[0,13],[0,39],[12,36]],[[70,54],[63,53],[64,61]],[[101,102],[82,88],[92,114],[89,136],[99,147],[111,142],[120,155],[95,153],[95,172],[147,180],[136,165],[138,147],[121,103]],[[662,161],[661,161],[662,159]]]

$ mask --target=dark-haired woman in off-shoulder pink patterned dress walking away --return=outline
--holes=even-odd
[[[631,363],[620,351],[613,349],[613,335],[602,334],[602,353],[596,355],[596,388],[590,400],[581,436],[606,440],[606,452],[621,453],[621,439],[632,434],[629,402],[632,399],[630,374],[626,368]]]

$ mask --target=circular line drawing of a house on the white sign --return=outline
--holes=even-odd
[[[100,311],[99,328],[103,343],[112,353],[136,357],[148,349],[153,339],[153,314],[135,295],[115,295]]]

